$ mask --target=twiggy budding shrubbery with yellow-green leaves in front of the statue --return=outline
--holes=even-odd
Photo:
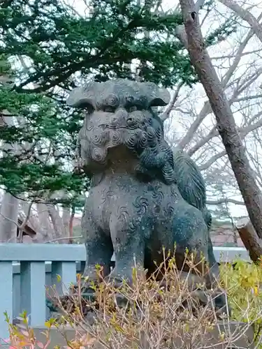
[[[133,285],[123,283],[121,288],[107,281],[99,285],[90,284],[96,295],[95,301],[80,297],[80,281],[71,297],[62,302],[56,299],[61,313],[60,320],[81,329],[84,334],[74,341],[67,341],[70,348],[212,348],[211,333],[218,332],[218,341],[224,348],[235,346],[240,336],[245,336],[249,326],[256,328],[255,340],[259,348],[261,341],[261,295],[259,282],[261,270],[247,262],[237,261],[221,266],[221,283],[207,290],[201,275],[196,273],[193,258],[187,258],[189,274],[181,273],[171,258],[161,265],[157,273],[145,278],[143,272],[133,270]],[[162,281],[157,281],[161,275]],[[88,280],[85,280],[88,282]],[[228,316],[220,318],[214,307],[214,299],[226,290],[232,307],[232,318],[246,325],[228,329]],[[205,304],[203,304],[205,303]],[[228,309],[224,309],[226,312]],[[86,315],[89,315],[87,318]],[[93,320],[93,321],[92,321]],[[60,322],[61,323],[61,322]],[[47,322],[47,327],[63,330],[56,320]],[[48,329],[47,329],[48,331]],[[47,348],[50,343],[37,343],[29,327],[22,335],[31,336],[27,341],[21,332],[10,326],[10,344],[14,348]],[[250,345],[247,344],[247,348]],[[261,346],[262,348],[262,346]]]

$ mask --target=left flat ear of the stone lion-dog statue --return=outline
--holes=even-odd
[[[97,89],[97,82],[88,82],[83,87],[76,87],[70,92],[66,104],[71,107],[95,108]]]

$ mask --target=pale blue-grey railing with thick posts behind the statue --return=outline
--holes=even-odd
[[[220,262],[249,260],[240,247],[214,247],[214,254]],[[43,325],[49,316],[46,287],[57,285],[57,292],[66,292],[84,267],[82,244],[0,244],[0,339],[8,336],[4,312],[14,319],[27,311],[31,326]]]

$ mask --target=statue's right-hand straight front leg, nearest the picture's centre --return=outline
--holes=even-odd
[[[110,233],[115,251],[115,268],[110,274],[117,284],[125,279],[132,282],[133,268],[142,271],[145,258],[145,217],[113,215],[110,218]]]

